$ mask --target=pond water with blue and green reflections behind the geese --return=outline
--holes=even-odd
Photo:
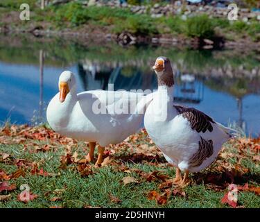
[[[150,65],[168,56],[175,69],[175,102],[193,106],[216,121],[235,122],[260,132],[259,54],[191,51],[164,47],[123,48],[73,41],[0,36],[0,120],[44,121],[49,100],[58,92],[64,69],[76,73],[78,92],[107,89],[156,89]],[[14,93],[15,92],[15,93]],[[33,110],[36,110],[33,113]]]

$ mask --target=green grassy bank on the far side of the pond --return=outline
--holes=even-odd
[[[79,32],[97,32],[119,34],[128,31],[133,35],[144,36],[177,36],[181,38],[225,37],[227,40],[248,38],[258,41],[260,23],[253,20],[250,23],[241,20],[229,22],[227,19],[209,18],[207,15],[197,15],[184,18],[182,15],[172,17],[152,18],[150,15],[138,15],[127,8],[84,7],[80,3],[66,3],[61,6],[49,6],[40,10],[34,0],[31,6],[31,20],[19,20],[19,2],[4,0],[0,3],[1,26],[12,28],[32,28],[43,26],[50,30],[67,30]],[[15,16],[15,14],[17,16]],[[12,15],[13,18],[10,18]]]

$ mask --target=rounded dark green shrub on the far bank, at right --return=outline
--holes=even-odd
[[[189,37],[211,38],[214,24],[207,15],[193,16],[187,19],[185,31]]]

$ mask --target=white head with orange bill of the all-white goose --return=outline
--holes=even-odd
[[[63,71],[59,78],[60,103],[63,103],[67,94],[76,92],[76,79],[71,71]]]

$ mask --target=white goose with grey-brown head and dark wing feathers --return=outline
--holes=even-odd
[[[146,110],[144,126],[166,160],[177,167],[173,182],[183,186],[189,172],[198,172],[214,162],[222,144],[232,137],[232,129],[199,110],[173,104],[173,69],[168,58],[158,57],[153,69],[158,91]]]

